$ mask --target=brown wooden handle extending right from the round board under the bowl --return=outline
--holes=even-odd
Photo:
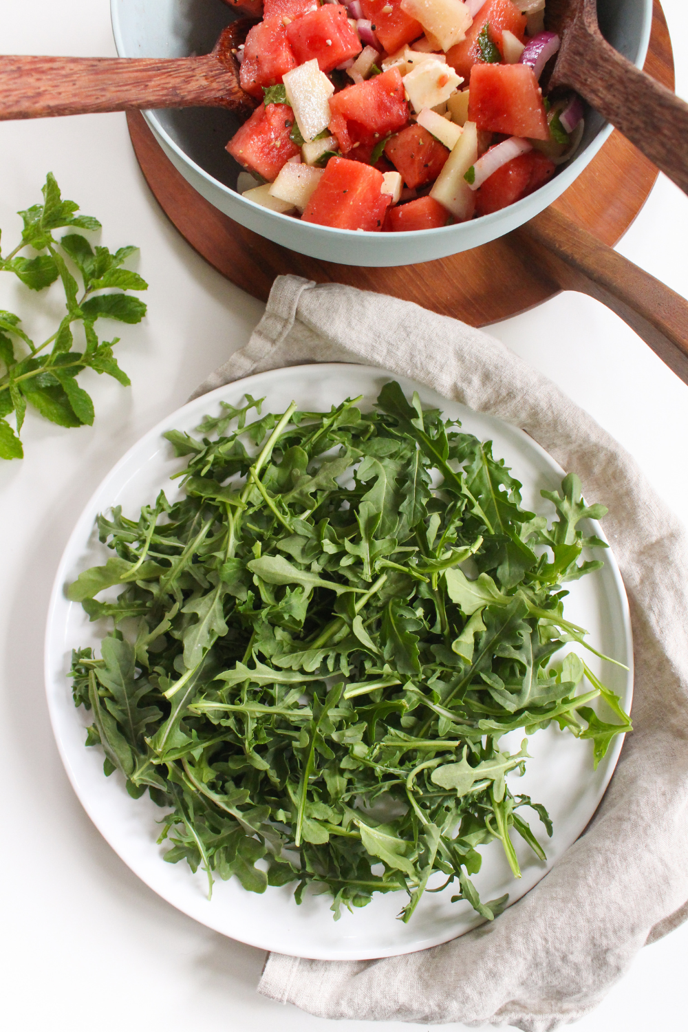
[[[516,230],[562,290],[601,301],[688,384],[688,301],[553,207]]]

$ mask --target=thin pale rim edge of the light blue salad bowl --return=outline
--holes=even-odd
[[[643,68],[645,64],[645,59],[647,57],[648,47],[650,45],[650,35],[652,32],[652,19],[653,19],[653,0],[635,0],[638,6],[642,7],[642,29],[641,38],[638,43],[637,56],[633,62],[636,68]],[[126,53],[126,47],[124,44],[124,33],[122,25],[120,22],[120,11],[123,9],[121,0],[110,0],[110,22],[112,26],[112,35],[114,37],[114,46],[118,52],[119,57],[129,57]],[[177,157],[177,159],[183,163],[188,165],[201,180],[203,180],[207,186],[212,190],[219,190],[220,193],[224,194],[230,199],[230,203],[248,204],[256,213],[261,215],[275,218],[282,220],[283,222],[293,223],[293,216],[283,215],[280,212],[272,212],[270,208],[264,207],[262,204],[257,204],[256,201],[244,197],[238,191],[228,187],[225,183],[221,183],[220,180],[216,180],[214,175],[210,175],[201,165],[195,162],[189,155],[184,151],[179,144],[170,136],[167,130],[163,127],[160,120],[157,118],[157,114],[153,109],[142,110],[141,115],[145,119],[150,129],[152,129],[155,136],[157,136],[165,147],[169,148]],[[588,146],[579,154],[576,155],[572,161],[566,163],[563,168],[570,173],[574,171],[575,174],[570,179],[570,183],[574,183],[578,176],[581,174],[583,169],[588,165],[595,155],[601,150],[603,144],[607,142],[612,132],[614,131],[614,126],[610,122],[604,122],[597,132],[597,134],[590,140]],[[509,208],[500,209],[498,212],[492,212],[490,215],[481,216],[481,224],[486,228],[486,237],[488,240],[493,239],[495,235],[501,235],[500,233],[490,233],[490,228],[496,223],[500,222],[503,218],[503,212],[509,211],[512,217],[517,216],[519,211],[523,209],[523,206],[530,206],[532,204],[531,197],[539,194],[543,197],[543,192],[549,192],[553,195],[546,201],[545,204],[540,204],[538,211],[553,203],[563,191],[556,191],[556,184],[559,176],[555,175],[553,179],[546,183],[544,186],[539,187],[538,190],[534,191],[534,194],[528,194],[527,197],[522,197],[517,200],[514,204],[510,204]],[[570,185],[570,184],[569,184]],[[548,188],[550,188],[548,190]],[[530,202],[530,204],[528,203]],[[216,205],[217,206],[217,205]],[[519,220],[519,225],[522,225],[527,221],[528,218],[532,218],[535,213],[527,216],[526,218]],[[395,233],[395,238],[398,237],[400,240],[406,239],[408,237],[418,239],[419,233],[422,233],[424,238],[437,237],[440,234],[447,233],[460,233],[462,227],[472,225],[472,221],[453,223],[450,226],[437,226],[433,229],[414,229],[414,230],[402,230]],[[346,234],[350,237],[360,237],[363,234],[366,237],[379,237],[380,234],[372,232],[370,230],[364,229],[339,229],[335,226],[321,226],[317,223],[303,223],[299,220],[301,226],[305,227],[305,232],[314,235],[320,235],[321,233],[334,234],[338,237],[340,234]],[[464,230],[465,231],[465,230]]]

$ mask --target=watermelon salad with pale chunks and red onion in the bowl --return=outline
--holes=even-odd
[[[545,0],[264,0],[262,15],[236,51],[258,106],[227,150],[239,192],[273,212],[370,232],[465,222],[580,144],[580,98],[539,83],[560,42]]]

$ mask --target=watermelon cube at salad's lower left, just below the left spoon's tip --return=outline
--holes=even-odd
[[[282,166],[299,154],[289,138],[293,125],[289,104],[261,104],[234,133],[227,150],[243,168],[271,183]]]

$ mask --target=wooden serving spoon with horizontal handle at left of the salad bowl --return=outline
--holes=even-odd
[[[227,107],[247,119],[259,101],[239,86],[234,55],[255,24],[232,23],[195,58],[0,57],[0,121],[162,107]]]

